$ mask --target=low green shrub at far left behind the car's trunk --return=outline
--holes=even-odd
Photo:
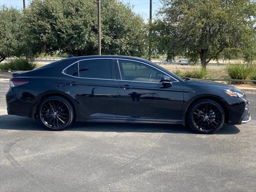
[[[34,68],[36,68],[36,63],[25,59],[10,60],[0,64],[0,69],[2,70],[30,71]]]

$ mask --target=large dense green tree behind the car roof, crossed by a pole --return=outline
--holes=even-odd
[[[142,56],[145,24],[118,0],[102,2],[102,53]],[[32,0],[25,18],[34,50],[97,54],[96,0]]]

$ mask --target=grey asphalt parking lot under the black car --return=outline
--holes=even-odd
[[[72,124],[52,132],[7,115],[0,79],[0,191],[256,191],[252,120],[213,135],[156,124]]]

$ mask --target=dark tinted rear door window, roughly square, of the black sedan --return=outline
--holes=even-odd
[[[112,79],[110,59],[79,61],[79,77]]]

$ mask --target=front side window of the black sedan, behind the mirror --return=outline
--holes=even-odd
[[[165,73],[146,64],[118,59],[122,80],[160,82]]]

